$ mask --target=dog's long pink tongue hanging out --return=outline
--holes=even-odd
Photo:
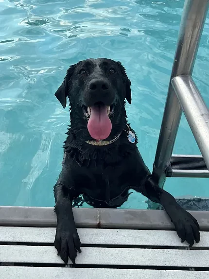
[[[88,132],[95,140],[105,140],[112,130],[112,123],[107,114],[107,106],[93,105],[90,109],[91,116],[87,125]]]

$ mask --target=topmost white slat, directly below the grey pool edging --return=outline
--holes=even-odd
[[[78,228],[82,244],[135,245],[135,246],[178,246],[181,243],[174,230],[98,229]],[[55,227],[0,227],[0,242],[53,244]],[[193,247],[209,248],[209,231],[201,232],[201,241]]]

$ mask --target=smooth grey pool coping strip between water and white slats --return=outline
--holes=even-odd
[[[209,211],[189,211],[202,231],[209,231]],[[164,210],[74,208],[77,227],[174,230]],[[0,206],[0,226],[56,227],[52,207]]]

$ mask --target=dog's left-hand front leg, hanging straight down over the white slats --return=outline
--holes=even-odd
[[[72,212],[72,201],[69,189],[59,184],[54,186],[55,213],[57,215],[56,236],[54,246],[57,254],[67,264],[68,258],[75,263],[77,251],[81,252],[81,242],[75,227]]]

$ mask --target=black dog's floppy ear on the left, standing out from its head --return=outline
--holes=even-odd
[[[76,66],[77,66],[77,64],[70,66],[70,68],[67,70],[67,74],[66,74],[66,77],[65,77],[63,83],[56,90],[56,92],[54,94],[54,96],[61,103],[63,108],[65,108],[66,104],[67,104],[67,97],[68,97],[69,89],[70,89],[69,82],[70,82],[71,76],[73,74],[73,70],[75,69]]]

